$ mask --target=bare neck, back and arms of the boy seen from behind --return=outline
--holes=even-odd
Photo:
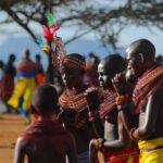
[[[37,121],[53,121],[55,115],[37,115]],[[55,154],[58,153],[58,154]],[[25,155],[28,163],[58,162],[65,163],[65,155],[71,163],[77,163],[75,155],[76,147],[72,135],[62,135],[60,137],[20,137],[15,147],[14,163],[24,163]]]

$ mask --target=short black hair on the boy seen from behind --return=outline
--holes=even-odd
[[[39,114],[58,111],[58,92],[51,85],[40,85],[33,92],[33,106]]]

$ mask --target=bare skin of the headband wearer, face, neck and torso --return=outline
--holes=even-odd
[[[61,66],[61,76],[65,85],[65,93],[71,97],[77,93],[82,93],[87,89],[87,86],[83,83],[84,71],[71,70]],[[87,122],[82,128],[77,129],[74,123],[79,116],[87,117],[88,110],[77,113],[72,109],[61,109],[62,112],[59,115],[59,120],[64,123],[65,127],[74,135],[77,145],[77,152],[82,153],[88,150],[89,140],[96,137],[92,125]]]

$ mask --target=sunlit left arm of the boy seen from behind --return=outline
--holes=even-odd
[[[23,145],[24,145],[23,138],[22,137],[17,138],[14,152],[14,163],[24,163],[25,150]]]

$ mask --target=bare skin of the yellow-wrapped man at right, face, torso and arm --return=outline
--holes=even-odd
[[[127,68],[133,70],[135,75],[139,78],[145,72],[147,72],[154,64],[153,58],[149,58],[147,53],[134,53],[137,47],[133,46],[126,53],[126,60],[128,63]],[[134,133],[134,137],[138,140],[154,139],[163,137],[163,87],[158,89],[148,99],[145,111],[139,114],[139,126]]]

